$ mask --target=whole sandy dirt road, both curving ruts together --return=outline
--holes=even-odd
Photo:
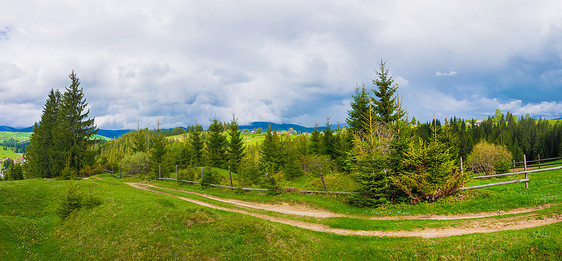
[[[493,217],[497,215],[505,215],[505,214],[518,214],[518,213],[527,213],[532,212],[537,209],[542,209],[549,207],[547,205],[541,206],[540,208],[526,208],[526,209],[516,209],[507,212],[488,212],[488,213],[474,213],[474,214],[467,214],[467,215],[455,215],[455,216],[408,216],[408,217],[375,217],[375,218],[368,218],[368,219],[378,219],[378,220],[393,220],[393,219],[474,219],[468,220],[462,226],[456,227],[446,227],[440,229],[423,229],[423,230],[413,230],[413,231],[373,231],[373,230],[350,230],[350,229],[340,229],[340,228],[332,228],[327,225],[299,221],[299,220],[292,220],[286,218],[279,218],[273,217],[265,214],[260,213],[253,213],[250,211],[236,209],[236,208],[226,208],[221,207],[215,204],[185,198],[181,196],[176,196],[170,193],[157,191],[154,189],[150,189],[149,187],[165,189],[165,190],[175,190],[163,187],[157,187],[154,185],[145,185],[139,183],[126,183],[132,187],[142,189],[145,191],[150,191],[154,193],[159,193],[175,198],[179,198],[181,200],[185,200],[191,202],[193,204],[197,204],[200,206],[218,209],[223,211],[230,211],[236,212],[244,215],[249,215],[265,220],[269,220],[272,222],[282,223],[294,227],[299,227],[303,229],[308,229],[312,231],[318,232],[326,232],[326,233],[334,233],[339,235],[359,235],[359,236],[389,236],[389,237],[423,237],[423,238],[435,238],[435,237],[448,237],[448,236],[455,236],[455,235],[465,235],[465,234],[473,234],[473,233],[491,233],[497,231],[504,231],[504,230],[518,230],[518,229],[525,229],[537,226],[544,226],[549,224],[554,224],[557,222],[562,221],[562,215],[549,217],[549,218],[539,218],[538,215],[529,214],[526,216],[517,216],[517,217],[505,217],[505,218],[487,218],[487,219],[477,219],[482,217]],[[306,206],[293,206],[293,205],[272,205],[272,204],[262,204],[262,203],[255,203],[255,202],[246,202],[240,200],[233,200],[233,199],[224,199],[215,196],[205,195],[196,192],[188,192],[179,190],[184,193],[194,194],[198,196],[202,196],[205,198],[209,198],[212,200],[216,200],[219,202],[224,202],[228,204],[232,204],[233,206],[239,206],[244,208],[251,208],[251,209],[260,209],[266,211],[275,211],[278,213],[289,214],[289,215],[299,215],[299,216],[308,216],[308,217],[315,217],[315,218],[330,218],[330,217],[351,217],[351,218],[365,218],[365,217],[357,217],[351,215],[343,215],[333,213],[327,210],[320,210],[320,209],[312,209]]]

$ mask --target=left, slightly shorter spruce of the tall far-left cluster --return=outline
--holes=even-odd
[[[60,106],[61,94],[57,90],[51,90],[41,121],[35,123],[33,133],[27,151],[25,153],[26,173],[32,177],[53,178],[57,176],[57,172],[51,167],[53,148],[53,129],[57,124],[57,115]]]

